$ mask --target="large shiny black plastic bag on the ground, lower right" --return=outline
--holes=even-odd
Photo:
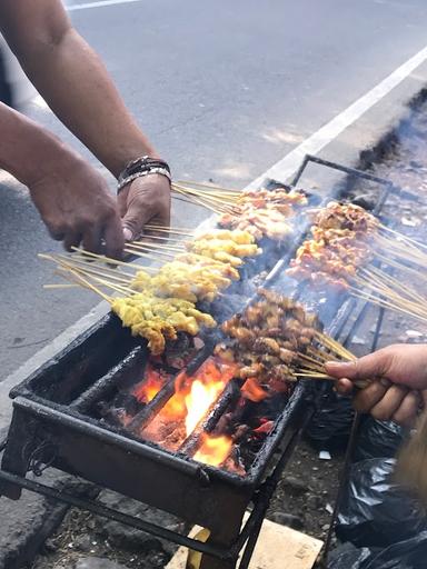
[[[352,465],[336,527],[340,541],[386,548],[427,530],[420,503],[393,482],[394,465],[394,459]]]

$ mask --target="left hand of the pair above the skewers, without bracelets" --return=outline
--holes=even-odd
[[[48,174],[28,187],[51,237],[67,250],[81,243],[88,251],[121,258],[123,230],[115,199],[85,160],[63,152]]]

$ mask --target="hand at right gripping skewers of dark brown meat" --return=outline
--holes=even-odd
[[[340,393],[351,392],[355,380],[373,380],[356,393],[354,405],[378,420],[411,426],[427,402],[427,345],[388,346],[355,361],[328,362],[326,371],[339,379]]]

